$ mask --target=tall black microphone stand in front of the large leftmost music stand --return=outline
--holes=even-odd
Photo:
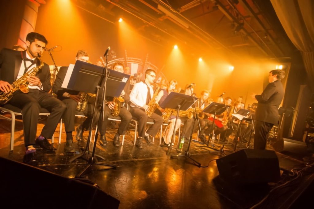
[[[95,110],[97,108],[97,104],[98,104],[98,96],[99,96],[99,89],[100,87],[103,85],[103,80],[104,80],[104,77],[105,77],[105,83],[104,83],[104,89],[103,89],[103,95],[104,95],[104,102],[103,104],[106,104],[106,101],[105,101],[105,95],[106,95],[106,81],[107,81],[107,78],[108,78],[108,69],[107,69],[107,61],[108,61],[108,53],[106,55],[106,66],[103,68],[103,73],[101,74],[101,77],[100,77],[100,80],[99,80],[99,83],[97,85],[97,93],[96,93],[96,97],[95,97],[95,103],[94,103],[94,109],[93,109],[93,117],[92,117],[92,121],[90,123],[90,126],[89,126],[89,135],[88,135],[88,140],[87,140],[87,143],[86,143],[86,148],[85,150],[83,151],[83,153],[81,153],[80,155],[78,156],[75,156],[73,157],[70,162],[74,161],[75,159],[79,158],[79,157],[82,157],[85,155],[85,153],[87,152],[87,155],[88,152],[89,152],[89,142],[90,142],[90,138],[91,138],[91,135],[92,135],[92,128],[93,128],[93,123],[94,123],[94,117],[95,117]],[[102,110],[101,110],[101,113],[100,114],[104,114],[104,105],[102,107]],[[99,118],[100,120],[100,118]],[[103,116],[102,116],[102,120],[103,120]],[[96,162],[96,158],[95,158],[95,150],[96,150],[96,144],[97,144],[97,129],[96,129],[96,132],[95,132],[95,142],[94,142],[94,146],[93,146],[93,151],[92,151],[92,155],[89,157],[88,159],[88,165],[83,169],[83,171],[81,171],[77,177],[80,177],[82,176],[89,167],[93,166],[94,164],[95,165],[100,165],[100,166],[108,166],[109,168],[105,168],[105,169],[101,169],[101,170],[110,170],[110,169],[116,169],[116,166],[114,165],[110,165],[110,164],[105,164],[105,163],[99,163],[99,162]],[[84,159],[84,158],[83,158]],[[85,159],[84,159],[85,160]]]

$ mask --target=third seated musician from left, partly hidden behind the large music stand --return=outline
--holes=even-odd
[[[112,69],[114,71],[124,73],[124,65],[122,62],[115,62],[112,65]],[[100,92],[102,92],[102,88],[100,89]],[[124,89],[121,92],[121,97],[124,99],[124,103],[127,104],[128,101],[130,100],[130,81],[128,80],[127,83],[124,86]],[[102,100],[100,98],[100,100]],[[106,96],[106,106],[104,109],[104,120],[102,118],[99,119],[99,133],[100,133],[100,140],[99,144],[101,146],[106,146],[107,145],[107,140],[106,140],[106,128],[107,128],[107,123],[108,123],[108,117],[111,115],[112,110],[116,107],[116,105],[120,105],[120,110],[118,113],[118,116],[121,118],[121,122],[119,124],[118,130],[116,134],[113,137],[113,145],[118,147],[120,146],[120,135],[124,135],[129,123],[131,122],[132,115],[129,110],[123,105],[123,104],[118,104],[115,101],[113,101],[113,97]]]

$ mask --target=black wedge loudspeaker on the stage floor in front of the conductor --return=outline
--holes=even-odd
[[[244,149],[216,160],[219,176],[234,184],[259,184],[280,179],[279,161],[272,150]]]

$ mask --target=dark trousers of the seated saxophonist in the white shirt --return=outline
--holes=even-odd
[[[164,122],[164,119],[156,113],[153,113],[150,117],[145,113],[144,109],[139,107],[131,107],[130,110],[132,116],[138,120],[138,135],[141,137],[145,136],[146,123],[148,118],[154,121],[154,124],[149,127],[147,134],[155,137],[158,133],[161,124]]]

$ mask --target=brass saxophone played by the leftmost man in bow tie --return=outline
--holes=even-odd
[[[41,61],[40,56],[38,56],[38,59],[40,61],[40,65],[37,67],[32,68],[28,72],[26,72],[22,77],[17,79],[16,81],[13,82],[12,89],[9,90],[8,93],[5,93],[4,91],[0,92],[0,105],[6,104],[13,96],[13,93],[16,90],[21,90],[21,92],[27,94],[30,89],[28,88],[28,77],[29,76],[35,76],[37,72],[44,66],[44,62]]]

